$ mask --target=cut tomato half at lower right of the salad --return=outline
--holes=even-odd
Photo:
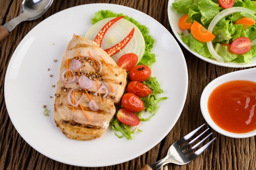
[[[245,54],[250,51],[251,48],[251,40],[246,37],[236,38],[229,46],[230,51],[236,54]]]

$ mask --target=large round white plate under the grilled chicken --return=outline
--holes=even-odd
[[[54,96],[61,59],[73,34],[83,36],[91,27],[90,18],[101,9],[110,9],[135,18],[150,29],[155,39],[157,62],[153,76],[168,100],[160,103],[155,116],[141,122],[141,133],[133,140],[119,139],[111,128],[91,141],[67,138],[54,123]],[[54,44],[53,44],[54,43]],[[57,59],[58,62],[53,62]],[[50,71],[47,69],[50,68]],[[49,77],[53,74],[53,77]],[[175,125],[186,99],[188,73],[182,51],[171,34],[150,16],[115,4],[86,4],[58,12],[32,29],[20,42],[5,76],[4,95],[10,119],[22,138],[45,156],[75,166],[99,167],[123,163],[144,154],[159,143]],[[50,116],[44,116],[47,105]]]

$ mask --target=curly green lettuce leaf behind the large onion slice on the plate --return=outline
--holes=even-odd
[[[105,18],[109,18],[109,17],[118,17],[118,16],[124,16],[123,13],[114,13],[110,10],[100,10],[97,13],[95,13],[94,17],[91,18],[91,23],[95,24],[96,22],[105,19]],[[154,42],[155,40],[152,38],[152,36],[149,35],[149,30],[145,25],[141,25],[139,24],[139,22],[137,22],[135,19],[130,18],[129,16],[125,16],[124,19],[132,22],[134,25],[136,25],[139,30],[141,31],[144,40],[145,40],[145,53],[144,56],[141,58],[140,63],[147,65],[147,66],[151,66],[153,63],[155,63],[155,54],[151,54],[151,50],[153,48]]]

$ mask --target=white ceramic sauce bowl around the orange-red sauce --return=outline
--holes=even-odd
[[[220,134],[223,134],[225,136],[229,136],[232,138],[247,138],[247,137],[256,135],[256,130],[253,130],[247,133],[231,133],[226,130],[223,130],[218,125],[216,125],[216,123],[211,119],[211,116],[209,114],[208,107],[207,107],[208,99],[213,89],[215,89],[216,87],[218,87],[223,83],[226,83],[228,81],[234,81],[234,80],[246,80],[246,81],[256,82],[255,74],[256,74],[256,68],[231,72],[214,79],[213,81],[211,81],[211,83],[209,83],[204,88],[204,91],[202,92],[201,99],[200,99],[201,112],[202,112],[202,115],[204,116],[205,121],[216,132],[219,132]]]

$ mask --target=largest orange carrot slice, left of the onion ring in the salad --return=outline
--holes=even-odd
[[[191,34],[195,39],[201,42],[209,42],[215,38],[215,36],[210,31],[205,29],[197,21],[194,21],[191,26]]]

